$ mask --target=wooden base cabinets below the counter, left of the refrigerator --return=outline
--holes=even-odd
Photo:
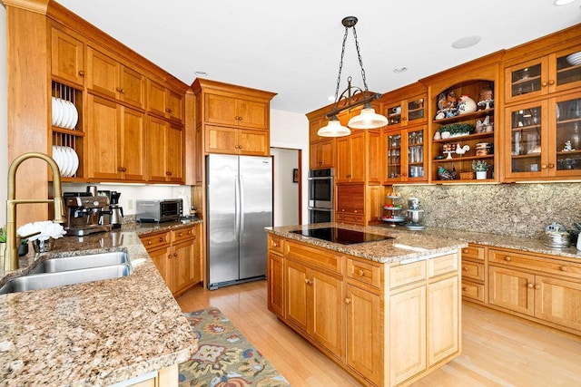
[[[201,225],[196,224],[140,237],[174,296],[202,281],[200,236]]]

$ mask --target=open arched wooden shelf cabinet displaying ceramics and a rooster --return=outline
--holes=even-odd
[[[502,52],[428,77],[429,181],[498,181],[498,78]],[[485,177],[474,164],[484,165]]]

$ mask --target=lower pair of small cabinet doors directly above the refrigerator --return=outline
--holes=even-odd
[[[270,133],[222,126],[206,125],[207,153],[267,156],[270,154]]]

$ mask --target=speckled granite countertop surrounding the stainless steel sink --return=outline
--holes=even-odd
[[[0,284],[38,260],[115,250],[133,265],[123,278],[0,295],[0,384],[109,385],[185,362],[197,340],[139,239],[183,226],[62,237],[50,253],[22,257],[23,269],[2,273]]]

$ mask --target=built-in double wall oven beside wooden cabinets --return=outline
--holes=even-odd
[[[309,223],[331,222],[333,219],[333,169],[309,171]]]

